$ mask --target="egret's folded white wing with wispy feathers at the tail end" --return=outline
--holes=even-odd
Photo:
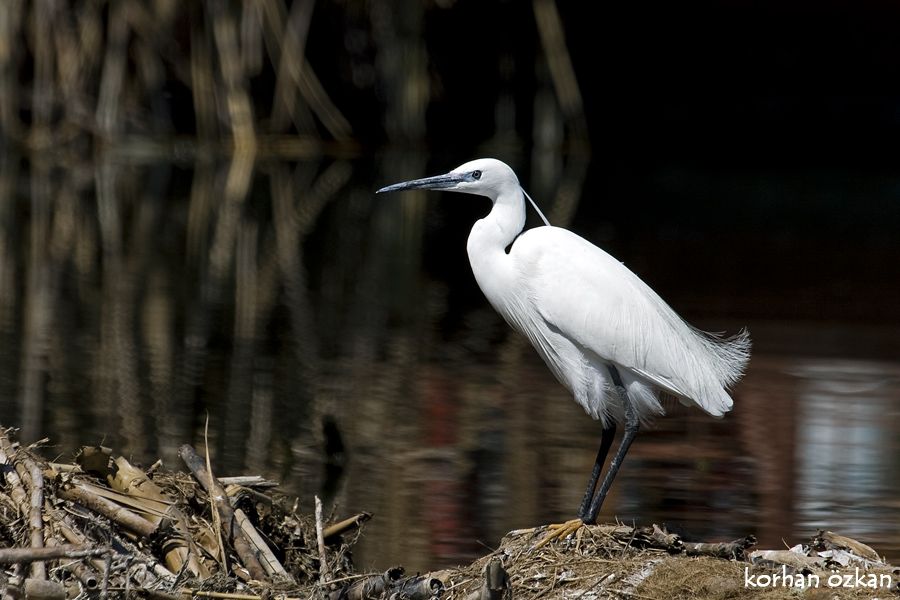
[[[622,263],[565,229],[537,228],[520,243],[522,277],[550,327],[711,414],[731,407],[724,386],[740,377],[746,338],[694,329]]]

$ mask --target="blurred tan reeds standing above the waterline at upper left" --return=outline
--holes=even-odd
[[[306,58],[313,5],[0,3],[0,138],[51,156],[92,143],[145,160],[355,154]]]

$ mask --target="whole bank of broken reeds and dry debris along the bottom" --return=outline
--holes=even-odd
[[[749,596],[829,599],[900,593],[900,569],[819,531],[786,550],[751,535],[689,543],[657,525],[522,529],[455,569],[355,574],[368,513],[326,522],[262,477],[216,477],[193,447],[186,472],[140,469],[105,448],[42,459],[0,430],[0,600],[189,597],[232,600],[537,600]],[[565,535],[558,535],[564,531]],[[807,594],[810,592],[810,594]],[[826,597],[823,596],[823,597]]]

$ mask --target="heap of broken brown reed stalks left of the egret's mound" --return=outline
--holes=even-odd
[[[354,576],[360,513],[326,523],[262,477],[216,477],[193,447],[188,473],[140,469],[109,449],[72,464],[42,459],[0,431],[0,598],[361,599],[440,582],[402,569]]]

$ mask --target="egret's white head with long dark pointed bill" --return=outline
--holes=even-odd
[[[505,163],[495,158],[479,158],[456,167],[446,175],[395,183],[381,188],[378,193],[418,189],[464,192],[496,200],[502,192],[520,188],[519,178]]]

